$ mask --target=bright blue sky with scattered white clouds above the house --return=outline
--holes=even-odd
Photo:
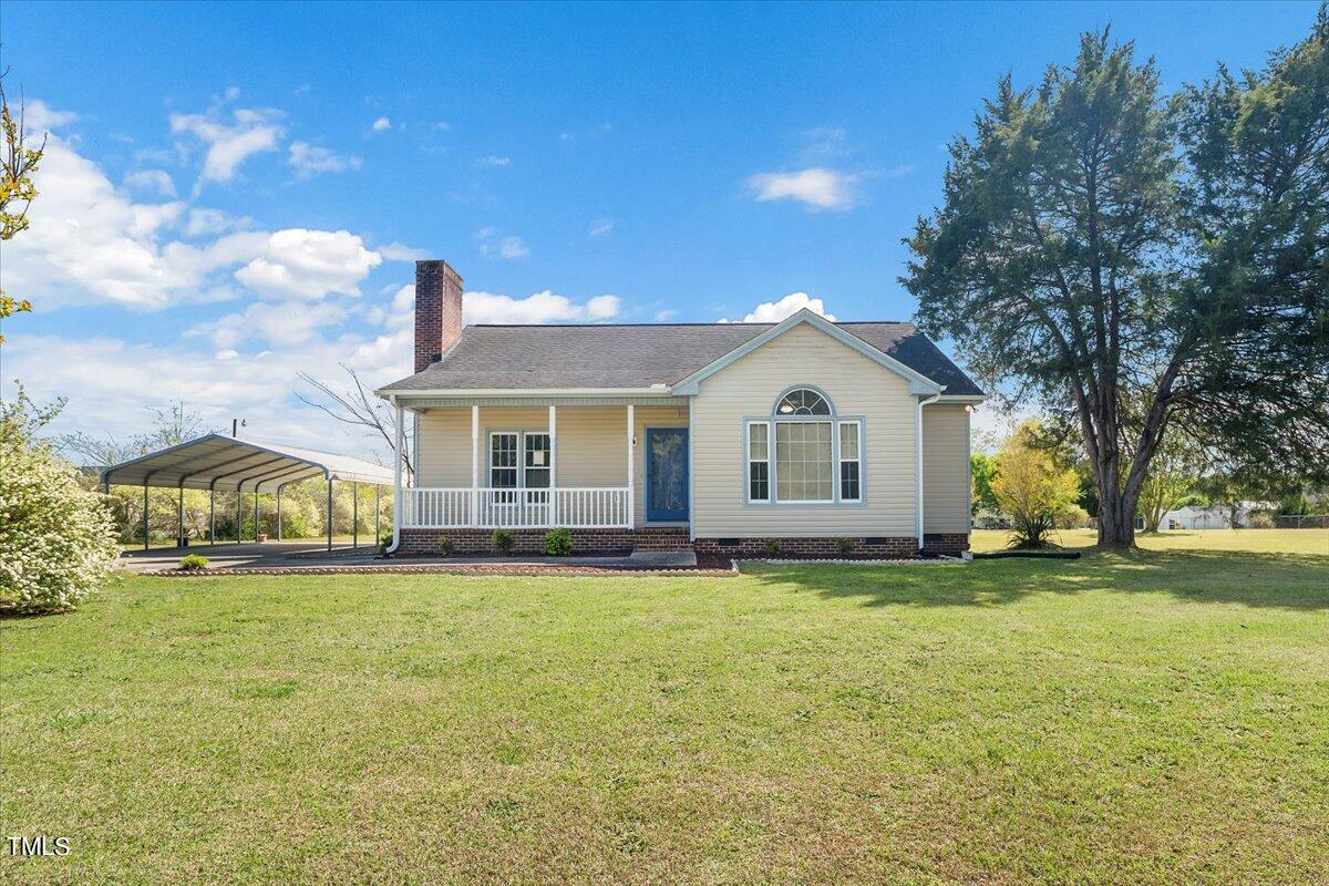
[[[1171,90],[1314,15],[11,0],[7,89],[53,139],[0,254],[37,304],[0,372],[69,397],[57,430],[133,433],[183,399],[363,450],[294,373],[404,375],[415,256],[462,274],[473,320],[908,319],[900,238],[998,76],[1034,82],[1111,24]]]

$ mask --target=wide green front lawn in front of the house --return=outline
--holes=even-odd
[[[0,622],[0,879],[1324,883],[1326,638],[1325,550],[124,579]]]

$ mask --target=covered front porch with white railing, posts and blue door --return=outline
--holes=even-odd
[[[682,529],[688,510],[686,401],[540,405],[508,400],[399,402],[416,413],[416,485],[400,493],[409,539],[451,530],[449,543],[488,546],[494,529],[542,535],[586,530]],[[428,530],[428,533],[424,533]],[[670,533],[678,543],[679,533]],[[631,550],[622,535],[595,533],[595,549]]]

